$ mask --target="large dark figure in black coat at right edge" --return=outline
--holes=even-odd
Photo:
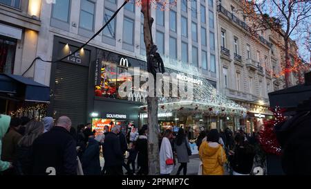
[[[304,103],[310,109],[311,102]],[[296,115],[274,127],[282,148],[283,172],[290,175],[311,174],[311,111],[297,111]]]

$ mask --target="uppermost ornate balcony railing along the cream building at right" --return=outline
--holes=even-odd
[[[230,19],[231,21],[235,22],[236,24],[238,24],[238,26],[241,26],[243,29],[247,30],[248,32],[252,30],[252,28],[250,28],[249,26],[247,26],[247,24],[245,23],[245,21],[241,21],[241,19],[238,19],[238,17],[236,17],[234,14],[232,14],[231,12],[229,12],[227,9],[225,9],[223,6],[219,5],[217,6],[217,10],[218,12],[223,13],[223,15],[225,15],[228,19]],[[272,44],[270,42],[268,42],[264,37],[262,37],[261,35],[257,36],[259,41],[261,41],[263,44],[266,44],[267,46],[272,46]]]

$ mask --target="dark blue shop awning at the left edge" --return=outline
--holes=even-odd
[[[21,75],[0,73],[1,96],[10,96],[30,102],[49,102],[50,87]]]

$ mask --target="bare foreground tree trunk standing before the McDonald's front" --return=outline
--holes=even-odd
[[[152,41],[151,41],[151,31],[149,26],[151,26],[151,10],[149,5],[149,0],[142,1],[142,14],[144,15],[144,44],[146,45],[146,54],[149,55],[151,51]],[[149,15],[148,15],[149,13]],[[156,89],[156,79],[154,82],[154,89]],[[153,89],[149,89],[153,90]],[[155,94],[156,90],[153,90]],[[148,97],[148,161],[149,161],[149,174],[156,175],[160,174],[160,161],[159,161],[159,147],[158,147],[158,98]]]

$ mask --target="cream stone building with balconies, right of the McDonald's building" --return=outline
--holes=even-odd
[[[252,132],[272,115],[267,95],[274,90],[270,72],[272,44],[267,32],[258,37],[250,35],[247,20],[236,10],[241,10],[238,1],[218,2],[220,90],[249,111],[246,119],[234,121],[235,129]],[[280,69],[278,58],[275,62],[276,69]]]

